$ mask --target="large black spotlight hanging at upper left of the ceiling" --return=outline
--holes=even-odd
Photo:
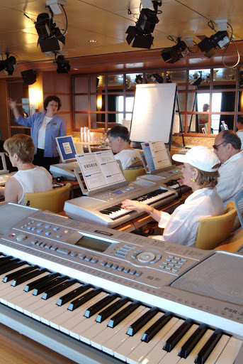
[[[35,21],[35,29],[38,33],[38,44],[43,53],[55,52],[62,49],[62,44],[65,44],[65,37],[62,35],[60,28],[57,28],[56,23],[53,23],[53,13],[51,18],[47,13],[38,15]]]

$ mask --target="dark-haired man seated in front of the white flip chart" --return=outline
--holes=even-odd
[[[109,145],[115,154],[115,159],[119,159],[123,169],[128,168],[141,168],[142,160],[140,152],[130,146],[129,132],[126,127],[122,125],[115,125],[115,127],[108,130],[107,133]]]

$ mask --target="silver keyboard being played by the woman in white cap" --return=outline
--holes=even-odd
[[[64,211],[74,220],[95,222],[114,228],[143,214],[121,208],[125,198],[158,207],[169,203],[177,196],[173,188],[151,181],[137,180],[127,186],[67,200],[64,203]]]

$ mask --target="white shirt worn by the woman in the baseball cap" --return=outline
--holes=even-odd
[[[186,198],[185,203],[176,208],[172,215],[162,212],[159,228],[164,228],[164,234],[153,238],[193,246],[200,218],[222,215],[224,212],[216,188],[201,188]]]

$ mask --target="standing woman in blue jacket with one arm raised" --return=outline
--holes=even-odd
[[[9,99],[14,121],[20,125],[31,127],[31,137],[35,144],[33,164],[43,166],[49,171],[51,164],[59,163],[56,137],[67,135],[64,120],[57,116],[61,107],[60,98],[48,96],[44,101],[45,112],[36,112],[30,117],[22,117],[16,107],[16,101]]]

